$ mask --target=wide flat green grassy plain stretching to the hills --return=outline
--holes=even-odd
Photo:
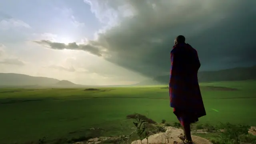
[[[88,136],[89,128],[120,135],[131,131],[126,116],[134,112],[177,122],[165,87],[0,89],[0,143]],[[204,83],[201,91],[207,116],[200,123],[256,125],[256,81]]]

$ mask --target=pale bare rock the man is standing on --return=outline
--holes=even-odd
[[[183,133],[180,128],[166,127],[166,132],[159,134],[153,134],[148,137],[148,142],[146,139],[142,140],[142,144],[173,144],[174,141],[180,142],[178,135]],[[194,144],[212,144],[209,140],[201,138],[199,136],[192,136]],[[140,140],[133,141],[132,144],[141,144]]]

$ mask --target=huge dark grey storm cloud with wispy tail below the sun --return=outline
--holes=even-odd
[[[106,48],[111,55],[106,60],[154,77],[168,73],[174,38],[182,34],[198,50],[202,70],[256,64],[255,0],[127,0],[127,3],[136,15],[99,34],[89,48],[50,41],[48,45],[54,49],[80,47],[96,55],[102,55],[99,48]]]

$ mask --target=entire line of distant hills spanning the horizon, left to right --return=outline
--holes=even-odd
[[[169,75],[156,76],[130,86],[168,84]],[[256,80],[256,66],[237,67],[216,71],[198,72],[199,82]],[[0,86],[48,86],[48,87],[86,87],[68,80],[58,80],[42,76],[30,76],[17,73],[0,73]],[[121,86],[121,85],[120,85]],[[97,86],[98,87],[98,86]],[[104,86],[106,87],[106,86]]]

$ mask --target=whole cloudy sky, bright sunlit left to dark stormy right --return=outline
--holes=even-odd
[[[169,73],[180,34],[198,50],[201,70],[252,66],[255,6],[256,0],[0,0],[0,72],[134,84]]]

